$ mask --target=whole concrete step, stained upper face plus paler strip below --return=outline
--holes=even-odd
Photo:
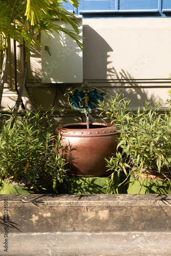
[[[171,195],[1,195],[0,256],[170,256],[170,202]]]

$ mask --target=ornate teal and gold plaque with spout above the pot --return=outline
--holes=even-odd
[[[80,113],[86,115],[87,129],[89,129],[89,113],[97,108],[97,104],[100,101],[104,103],[105,95],[109,96],[105,88],[102,88],[103,92],[96,87],[91,87],[87,82],[84,82],[81,87],[77,87],[70,91],[67,89],[65,97],[68,98],[68,105],[74,109],[78,110]]]

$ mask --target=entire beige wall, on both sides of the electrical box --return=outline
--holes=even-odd
[[[105,87],[112,95],[123,93],[131,99],[134,108],[143,105],[145,99],[160,100],[165,108],[171,87],[171,18],[91,18],[82,19],[82,25],[85,38],[83,81],[99,89]],[[23,68],[22,49],[23,46],[17,46],[18,84]],[[12,59],[13,50],[10,64]],[[9,67],[2,102],[4,108],[13,104],[16,97],[13,67]],[[56,112],[67,106],[62,92],[77,86],[79,84],[59,84]],[[40,49],[31,52],[26,88],[24,102],[28,108],[42,104],[48,109],[53,105],[56,84],[41,83]],[[64,122],[78,120],[79,113],[67,109]]]

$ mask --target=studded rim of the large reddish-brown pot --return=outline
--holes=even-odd
[[[118,134],[117,127],[115,125],[109,125],[108,123],[89,123],[90,128],[87,129],[87,123],[68,123],[57,127],[56,134],[60,132],[63,136],[108,136],[112,134]]]

